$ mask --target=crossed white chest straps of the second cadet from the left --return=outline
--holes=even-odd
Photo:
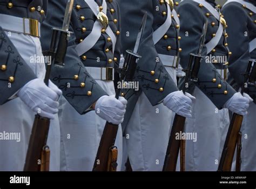
[[[95,16],[97,17],[98,13],[99,13],[99,6],[95,1],[91,1],[91,0],[84,0],[85,3],[87,3],[90,7],[90,9],[93,11],[93,14],[95,14]],[[105,14],[107,14],[107,5],[106,5],[106,1],[103,0],[102,1],[102,7],[103,7],[103,12]],[[76,50],[79,56],[83,55],[85,52],[89,51],[98,41],[98,39],[100,38],[100,36],[102,35],[102,26],[100,25],[99,21],[96,20],[96,22],[93,25],[92,31],[91,33],[83,40],[82,43],[79,43],[76,46]],[[112,52],[114,53],[114,48],[116,46],[116,36],[114,35],[113,31],[111,30],[110,26],[107,26],[106,28],[106,33],[107,35],[110,36],[111,40],[112,40]]]

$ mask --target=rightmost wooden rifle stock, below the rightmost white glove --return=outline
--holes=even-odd
[[[243,117],[233,113],[230,127],[227,131],[223,152],[221,154],[218,171],[231,171],[235,147],[237,146],[238,133],[240,132]]]

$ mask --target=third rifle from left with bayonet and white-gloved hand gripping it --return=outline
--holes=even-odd
[[[196,98],[190,95],[189,93],[187,93],[186,90],[187,90],[187,86],[189,86],[188,82],[190,82],[190,80],[193,82],[198,81],[197,76],[200,68],[200,63],[203,58],[201,56],[201,52],[203,50],[204,43],[205,43],[206,31],[207,31],[207,21],[204,24],[204,29],[200,37],[200,46],[198,49],[198,53],[197,55],[194,55],[193,53],[190,54],[190,61],[188,62],[187,69],[184,69],[186,76],[185,76],[185,82],[183,85],[182,92],[187,97],[187,102],[179,103],[179,106],[186,107],[186,109],[184,111],[173,110],[174,112],[176,112],[176,115],[173,120],[171,135],[170,135],[169,143],[166,150],[163,171],[176,171],[179,151],[180,151],[180,171],[185,171],[185,140],[176,140],[176,133],[184,132],[186,117],[192,117],[191,104],[192,104],[192,100],[195,100]],[[174,98],[172,98],[174,102],[180,101],[179,100],[179,96],[181,96],[180,93],[181,91],[176,92],[176,95],[174,96]],[[168,98],[171,95],[172,93],[168,95],[166,98]],[[167,104],[166,100],[164,100],[164,104]]]

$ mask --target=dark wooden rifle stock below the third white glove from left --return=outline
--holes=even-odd
[[[185,117],[179,116],[178,114],[176,114],[174,117],[171,136],[166,151],[163,171],[176,171],[176,165],[179,156],[181,142],[181,140],[176,139],[176,133],[184,131],[185,120]]]

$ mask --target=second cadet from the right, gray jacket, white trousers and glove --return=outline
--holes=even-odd
[[[192,118],[186,119],[185,132],[197,133],[197,141],[186,140],[186,170],[216,171],[223,150],[222,133],[229,125],[227,107],[245,114],[250,101],[226,82],[228,57],[226,23],[214,0],[183,1],[180,14],[180,64],[186,68],[190,53],[197,53],[203,26],[207,21],[206,42],[200,64],[198,82],[190,89],[197,100],[192,106]],[[215,9],[216,8],[216,9]],[[219,57],[219,59],[217,59]]]

